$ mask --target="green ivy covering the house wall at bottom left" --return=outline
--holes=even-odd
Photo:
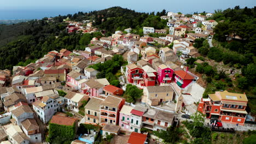
[[[75,125],[59,125],[49,123],[49,135],[46,141],[50,143],[71,143],[75,137]]]

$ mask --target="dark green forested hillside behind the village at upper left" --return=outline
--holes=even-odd
[[[68,34],[65,31],[67,23],[63,19],[69,17],[73,21],[95,20],[94,25],[106,30],[106,36],[116,30],[135,28],[133,33],[143,33],[143,26],[164,28],[166,21],[160,19],[165,15],[165,10],[158,16],[154,13],[137,13],[134,10],[113,7],[90,13],[75,13],[73,15],[54,17],[54,21],[32,20],[14,25],[1,25],[0,27],[0,69],[12,69],[21,61],[38,59],[51,50],[84,49],[93,37],[101,37],[95,34]],[[104,20],[102,20],[104,19]]]

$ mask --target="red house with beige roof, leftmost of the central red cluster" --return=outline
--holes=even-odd
[[[126,77],[129,83],[143,85],[143,69],[136,64],[126,66]]]

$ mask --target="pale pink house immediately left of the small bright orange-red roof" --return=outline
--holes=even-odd
[[[103,94],[103,87],[100,82],[97,82],[95,79],[90,79],[85,82],[85,87],[82,88],[85,94],[88,94],[91,97],[100,97],[100,94]]]

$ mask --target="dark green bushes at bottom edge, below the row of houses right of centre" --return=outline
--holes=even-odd
[[[179,140],[181,131],[176,127],[169,127],[167,130],[153,131],[153,134],[163,139],[166,143],[176,143]]]

